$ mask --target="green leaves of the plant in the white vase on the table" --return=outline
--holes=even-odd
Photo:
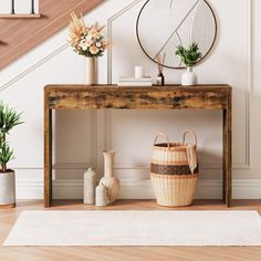
[[[187,67],[194,66],[202,58],[197,43],[192,43],[187,49],[178,45],[175,54],[181,58],[182,63]]]

